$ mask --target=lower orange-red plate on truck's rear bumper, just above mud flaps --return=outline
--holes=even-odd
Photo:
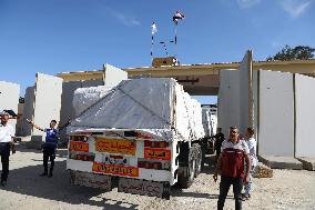
[[[101,162],[93,162],[92,171],[125,177],[139,177],[139,169],[135,167],[104,164]]]

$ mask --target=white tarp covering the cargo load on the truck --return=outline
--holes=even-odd
[[[82,113],[72,121],[68,133],[126,129],[143,130],[172,140],[170,132],[173,128],[179,140],[204,137],[201,104],[191,99],[174,79],[142,78],[124,80],[111,90],[102,88],[74,92],[74,109]],[[82,97],[84,91],[87,97]],[[82,104],[79,98],[82,101],[91,99],[91,106],[87,108],[88,102]]]

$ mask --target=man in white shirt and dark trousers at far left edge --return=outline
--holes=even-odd
[[[0,156],[2,163],[1,173],[1,186],[7,186],[7,179],[9,174],[9,157],[10,148],[13,143],[14,131],[9,121],[9,113],[6,111],[0,112],[1,123],[0,123]]]

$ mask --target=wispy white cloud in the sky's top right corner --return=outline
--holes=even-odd
[[[292,18],[301,17],[314,2],[314,0],[281,0],[280,6]]]

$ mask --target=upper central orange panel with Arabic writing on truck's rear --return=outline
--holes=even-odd
[[[108,153],[122,153],[122,154],[135,154],[135,141],[124,139],[103,139],[96,138],[95,150],[98,152]]]

